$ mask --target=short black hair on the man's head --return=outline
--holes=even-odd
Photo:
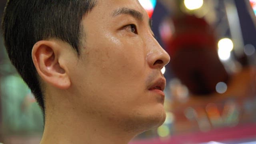
[[[8,56],[34,94],[44,114],[44,96],[32,61],[32,48],[40,40],[55,38],[70,44],[79,56],[82,18],[95,0],[8,0],[2,32]]]

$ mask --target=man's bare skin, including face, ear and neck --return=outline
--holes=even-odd
[[[41,144],[127,144],[160,126],[166,117],[160,70],[170,57],[138,0],[98,0],[82,25],[79,57],[60,40],[33,47],[46,98]]]

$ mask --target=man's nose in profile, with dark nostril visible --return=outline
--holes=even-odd
[[[160,46],[156,39],[148,43],[147,61],[151,68],[162,69],[166,64],[170,62],[169,54]]]

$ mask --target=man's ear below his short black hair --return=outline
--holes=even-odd
[[[60,64],[62,46],[52,40],[36,42],[32,49],[32,60],[44,82],[60,89],[70,87],[70,78],[64,64]]]

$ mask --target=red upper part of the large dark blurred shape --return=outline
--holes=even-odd
[[[181,48],[212,48],[216,50],[217,42],[214,30],[202,18],[183,15],[172,19],[175,33],[167,43],[167,50],[173,56]]]

